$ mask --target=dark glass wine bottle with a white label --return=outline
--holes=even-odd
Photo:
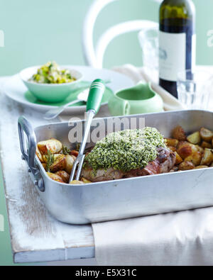
[[[178,72],[195,67],[195,5],[192,0],[164,0],[160,5],[160,86],[178,97]]]

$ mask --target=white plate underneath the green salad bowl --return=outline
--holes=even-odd
[[[104,79],[104,80],[111,80],[111,84],[107,86],[111,89],[114,93],[121,89],[126,89],[134,85],[133,81],[125,76],[124,74],[119,74],[117,72],[108,70],[108,69],[96,69],[92,67],[86,66],[63,66],[63,67],[72,67],[72,69],[76,69],[84,75],[84,81],[92,82],[94,79]],[[30,102],[26,99],[25,94],[28,89],[21,81],[19,74],[16,74],[8,79],[3,86],[4,94],[8,96],[10,99],[21,103],[25,106],[29,106],[34,108],[37,111],[48,111],[50,108],[54,108],[55,106],[51,105],[43,105]],[[104,104],[102,104],[104,105]],[[68,107],[65,109],[65,113],[80,113],[86,110],[86,106],[73,106]]]

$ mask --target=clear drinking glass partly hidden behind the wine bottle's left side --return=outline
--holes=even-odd
[[[138,34],[138,40],[141,45],[143,55],[143,67],[148,76],[155,82],[158,81],[159,69],[159,40],[158,28],[147,28],[141,30]]]

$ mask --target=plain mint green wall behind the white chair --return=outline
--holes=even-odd
[[[81,30],[92,0],[0,0],[0,29],[5,47],[0,48],[0,75],[23,67],[56,60],[83,65]],[[207,30],[213,29],[213,1],[195,0],[197,6],[197,62],[213,64],[213,48],[207,47]],[[107,27],[136,18],[158,20],[158,4],[151,0],[122,0],[110,4],[98,18],[95,38]],[[141,65],[136,33],[114,40],[105,67],[131,62]]]

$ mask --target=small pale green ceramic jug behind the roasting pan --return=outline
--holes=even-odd
[[[163,112],[163,99],[151,88],[151,83],[139,83],[111,97],[108,103],[112,116]]]

